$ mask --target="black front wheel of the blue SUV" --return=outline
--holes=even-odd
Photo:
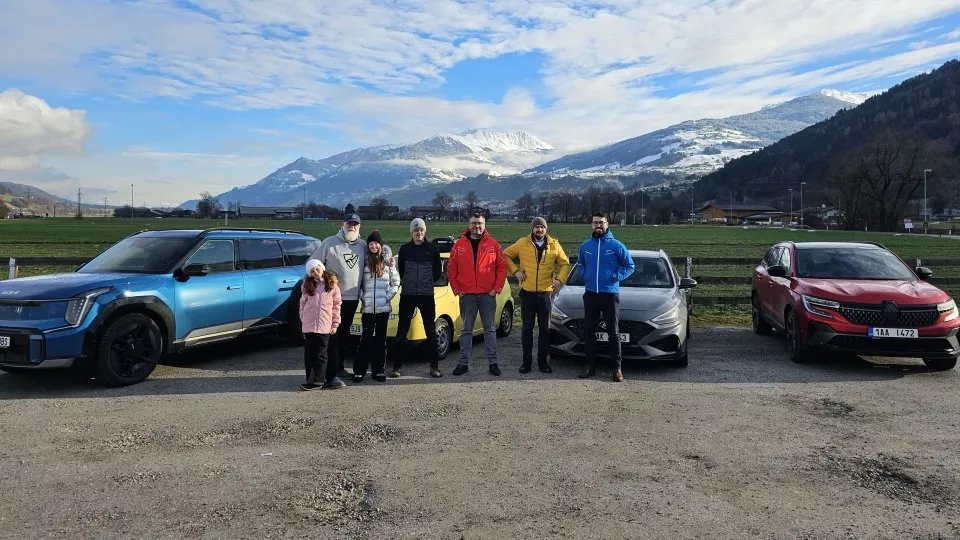
[[[142,313],[127,313],[97,338],[94,376],[110,386],[136,384],[153,373],[161,356],[163,336],[157,323]]]

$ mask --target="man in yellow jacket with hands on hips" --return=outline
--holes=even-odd
[[[531,233],[503,250],[507,268],[520,282],[520,316],[523,329],[523,365],[520,373],[530,373],[533,363],[533,321],[537,320],[540,336],[537,339],[537,367],[544,373],[553,373],[547,363],[550,349],[550,310],[552,293],[560,289],[570,275],[570,259],[556,238],[547,235],[547,220],[533,218]],[[515,260],[520,260],[517,266]]]

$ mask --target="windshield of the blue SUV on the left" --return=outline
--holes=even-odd
[[[134,236],[114,244],[77,272],[166,274],[196,243],[196,238]]]

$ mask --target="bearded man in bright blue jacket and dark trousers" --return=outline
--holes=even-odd
[[[596,374],[597,324],[606,323],[610,359],[617,370],[613,380],[623,380],[623,359],[620,356],[620,282],[633,273],[633,257],[623,242],[613,237],[603,212],[594,212],[593,236],[580,244],[577,264],[586,292],[583,293],[583,333],[587,363],[581,379]]]

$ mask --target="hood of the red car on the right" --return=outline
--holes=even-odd
[[[855,304],[879,304],[884,300],[892,300],[901,305],[939,304],[950,299],[947,293],[920,280],[804,279],[802,282],[805,294]]]

